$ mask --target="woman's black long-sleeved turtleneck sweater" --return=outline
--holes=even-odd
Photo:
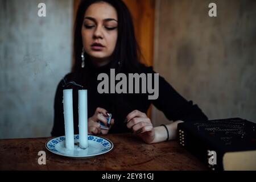
[[[156,100],[148,100],[148,94],[99,94],[97,86],[101,81],[97,81],[98,74],[110,73],[110,64],[103,67],[94,67],[93,64],[87,64],[86,69],[82,72],[72,72],[64,77],[57,86],[55,103],[54,103],[54,124],[52,136],[57,137],[65,135],[64,114],[63,114],[63,89],[73,89],[73,118],[75,134],[79,134],[78,127],[78,86],[67,84],[75,82],[82,85],[84,89],[88,89],[88,117],[92,117],[97,107],[106,109],[112,113],[115,123],[109,133],[128,133],[126,124],[124,123],[127,114],[133,110],[139,110],[147,113],[148,108],[153,104],[156,108],[163,111],[164,115],[170,121],[181,120],[203,121],[207,120],[207,116],[201,109],[194,105],[192,101],[187,101],[180,96],[174,88],[163,77],[159,76],[159,97]],[[142,72],[155,73],[152,67],[141,65]],[[153,77],[154,78],[154,77]],[[127,80],[128,81],[128,80]],[[110,82],[110,78],[109,78]],[[117,84],[117,82],[116,82]],[[127,86],[128,89],[128,86]],[[110,91],[110,87],[109,87]]]

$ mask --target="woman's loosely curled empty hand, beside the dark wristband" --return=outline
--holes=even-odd
[[[155,139],[155,129],[145,113],[134,110],[127,115],[125,122],[127,127],[138,134],[144,142],[151,143]]]

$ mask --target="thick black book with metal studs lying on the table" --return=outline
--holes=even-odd
[[[211,170],[256,170],[256,124],[229,118],[179,123],[179,143]]]

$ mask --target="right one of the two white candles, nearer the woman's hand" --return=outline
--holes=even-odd
[[[79,143],[88,147],[87,90],[79,90]]]

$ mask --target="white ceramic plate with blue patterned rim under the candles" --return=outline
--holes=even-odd
[[[74,139],[74,150],[67,150],[65,148],[65,136],[48,140],[48,142],[46,142],[46,148],[53,154],[69,158],[92,158],[93,156],[105,154],[111,151],[114,147],[113,143],[106,138],[88,135],[89,147],[84,150],[79,147],[79,135],[75,135]]]

